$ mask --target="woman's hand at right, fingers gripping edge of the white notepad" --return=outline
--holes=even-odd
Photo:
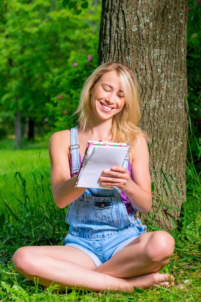
[[[110,176],[101,176],[102,185],[112,185],[118,187],[121,191],[127,191],[132,185],[132,179],[129,171],[124,167],[114,166],[111,170],[104,170],[104,174]]]

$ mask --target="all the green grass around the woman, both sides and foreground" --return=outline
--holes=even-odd
[[[137,289],[133,293],[68,290],[67,295],[59,295],[53,292],[55,286],[44,292],[43,286],[25,280],[12,263],[16,249],[28,245],[62,245],[67,233],[66,209],[59,209],[51,194],[48,149],[43,142],[40,146],[37,144],[23,150],[14,150],[12,146],[0,150],[0,301],[180,302],[201,299],[201,184],[192,163],[187,163],[186,202],[178,228],[171,232],[176,242],[175,251],[169,264],[161,270],[174,275],[174,287]],[[152,230],[155,230],[154,224],[149,225],[149,231]],[[185,280],[189,282],[183,284]]]

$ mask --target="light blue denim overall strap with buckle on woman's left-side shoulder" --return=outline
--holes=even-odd
[[[79,126],[70,129],[70,154],[72,159],[72,172],[76,174],[79,172],[79,144],[77,130]]]

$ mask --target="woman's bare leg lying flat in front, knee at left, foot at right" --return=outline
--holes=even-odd
[[[55,247],[48,247],[49,250],[44,252],[36,252],[36,248],[39,247],[25,247],[19,249],[14,254],[14,265],[16,269],[25,275],[28,279],[37,280],[39,283],[45,286],[50,284],[60,284],[61,288],[82,288],[90,289],[93,291],[111,289],[116,291],[134,291],[133,286],[141,288],[148,288],[156,284],[162,284],[168,286],[168,275],[161,275],[160,277],[155,274],[149,274],[145,276],[135,278],[116,278],[104,273],[95,272],[94,270],[83,267],[77,263],[73,263],[68,260],[62,260],[48,256],[48,251],[53,250]],[[65,249],[65,255],[67,257],[68,251],[72,252],[71,247],[56,247],[57,252],[63,253]],[[70,250],[69,250],[70,249]],[[77,249],[74,249],[74,251]],[[85,253],[80,252],[80,256],[85,257]],[[84,255],[83,255],[84,254]],[[71,255],[72,256],[72,255]],[[86,255],[87,256],[87,255]],[[79,257],[80,258],[80,257]],[[167,282],[167,283],[164,283]]]

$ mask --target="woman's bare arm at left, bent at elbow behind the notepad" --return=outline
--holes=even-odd
[[[70,178],[70,166],[68,161],[69,145],[69,130],[56,132],[50,138],[51,187],[54,201],[59,208],[64,208],[76,200],[86,189],[75,188],[76,176]]]

